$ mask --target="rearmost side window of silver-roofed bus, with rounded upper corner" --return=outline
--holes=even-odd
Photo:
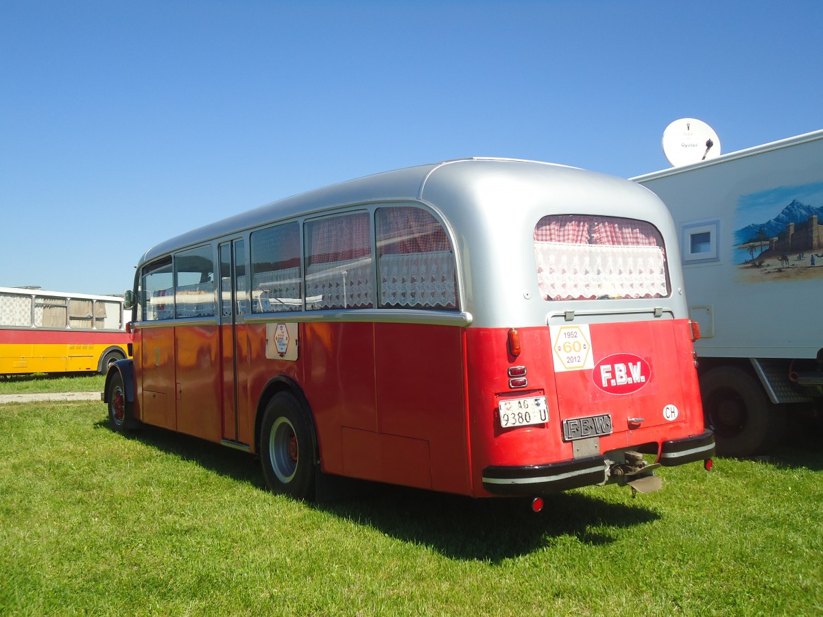
[[[377,269],[381,308],[458,308],[449,235],[429,212],[378,208]]]

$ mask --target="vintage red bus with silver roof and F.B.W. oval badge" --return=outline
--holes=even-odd
[[[102,397],[115,429],[253,452],[298,498],[657,489],[714,452],[675,233],[635,183],[522,160],[289,197],[142,256]]]

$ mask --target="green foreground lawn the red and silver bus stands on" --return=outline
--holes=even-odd
[[[2,615],[820,615],[823,448],[520,499],[306,504],[95,402],[0,406]]]

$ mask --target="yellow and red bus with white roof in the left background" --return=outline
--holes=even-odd
[[[123,298],[0,287],[0,375],[106,373],[128,355]]]

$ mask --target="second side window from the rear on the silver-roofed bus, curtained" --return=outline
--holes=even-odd
[[[307,309],[374,307],[372,237],[367,212],[306,222]]]

